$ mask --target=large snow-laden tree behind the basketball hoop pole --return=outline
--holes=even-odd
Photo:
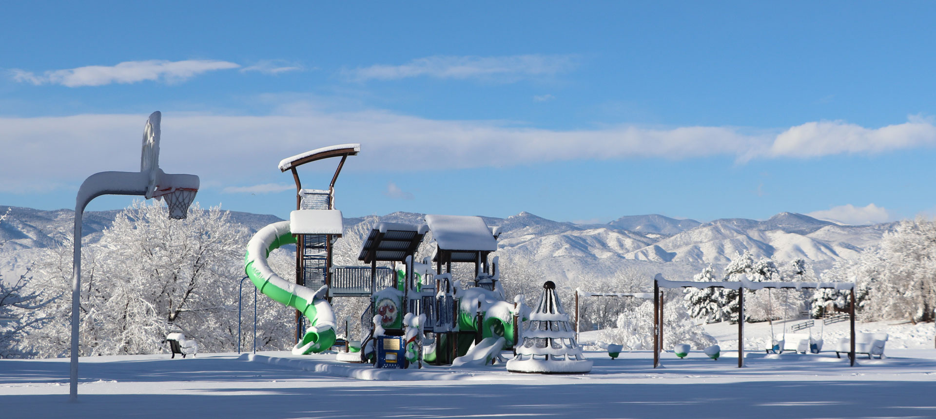
[[[173,331],[197,340],[205,352],[237,344],[246,229],[217,207],[195,204],[185,220],[169,219],[167,210],[137,201],[82,252],[81,355],[165,352]],[[31,289],[70,290],[70,248],[66,240],[45,254]],[[39,311],[53,320],[23,343],[43,356],[67,354],[70,299]]]

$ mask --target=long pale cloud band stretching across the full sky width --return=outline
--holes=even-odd
[[[791,132],[749,134],[724,126],[643,127],[553,130],[503,122],[438,121],[386,110],[328,111],[293,108],[271,116],[163,115],[160,162],[169,172],[196,173],[205,184],[252,184],[266,180],[283,156],[329,144],[361,142],[362,152],[346,166],[356,170],[427,170],[427,155],[446,156],[446,168],[519,166],[570,160],[632,158],[684,159],[732,156],[751,159],[807,158],[849,152],[887,152],[936,146],[936,127],[912,118],[884,128],[832,123],[796,149],[781,147]],[[301,110],[295,110],[301,109]],[[0,190],[22,192],[22,173],[37,187],[70,184],[100,170],[139,169],[139,135],[146,115],[75,115],[0,118]],[[838,127],[838,128],[837,128]],[[860,132],[857,138],[849,133]],[[308,133],[329,138],[310,142]],[[828,136],[828,137],[825,137]],[[257,138],[277,138],[258,147]],[[883,145],[885,146],[882,146]],[[419,150],[420,152],[411,152]],[[50,152],[54,151],[54,152]],[[260,166],[247,164],[260,162]],[[44,162],[36,171],[35,163]],[[263,166],[265,163],[269,166]],[[232,187],[230,193],[264,193],[291,188],[281,184]],[[256,188],[256,189],[250,189]],[[399,189],[399,188],[398,188]],[[402,192],[402,191],[400,191]],[[387,193],[393,195],[392,188]],[[402,192],[405,194],[405,192]],[[405,196],[405,195],[397,195]]]

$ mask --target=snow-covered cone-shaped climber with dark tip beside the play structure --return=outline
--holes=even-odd
[[[582,357],[575,327],[556,296],[556,284],[543,284],[536,310],[523,328],[517,356],[507,361],[512,372],[580,373],[592,370],[592,361]]]

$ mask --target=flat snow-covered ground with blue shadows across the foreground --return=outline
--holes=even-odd
[[[7,359],[0,417],[936,417],[936,350],[896,341],[885,359],[854,368],[834,353],[751,352],[745,368],[732,352],[664,354],[654,369],[650,352],[587,352],[592,373],[568,376],[503,365],[378,370],[287,352],[101,356],[81,358],[78,403],[67,402],[67,359]]]

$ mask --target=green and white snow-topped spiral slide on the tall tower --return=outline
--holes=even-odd
[[[273,272],[267,263],[267,257],[274,249],[295,242],[296,238],[289,231],[288,221],[261,228],[247,243],[244,270],[261,293],[300,311],[309,319],[309,332],[293,347],[293,354],[328,351],[335,342],[335,313],[331,311],[331,306],[325,299],[326,287],[313,291],[285,281]]]

